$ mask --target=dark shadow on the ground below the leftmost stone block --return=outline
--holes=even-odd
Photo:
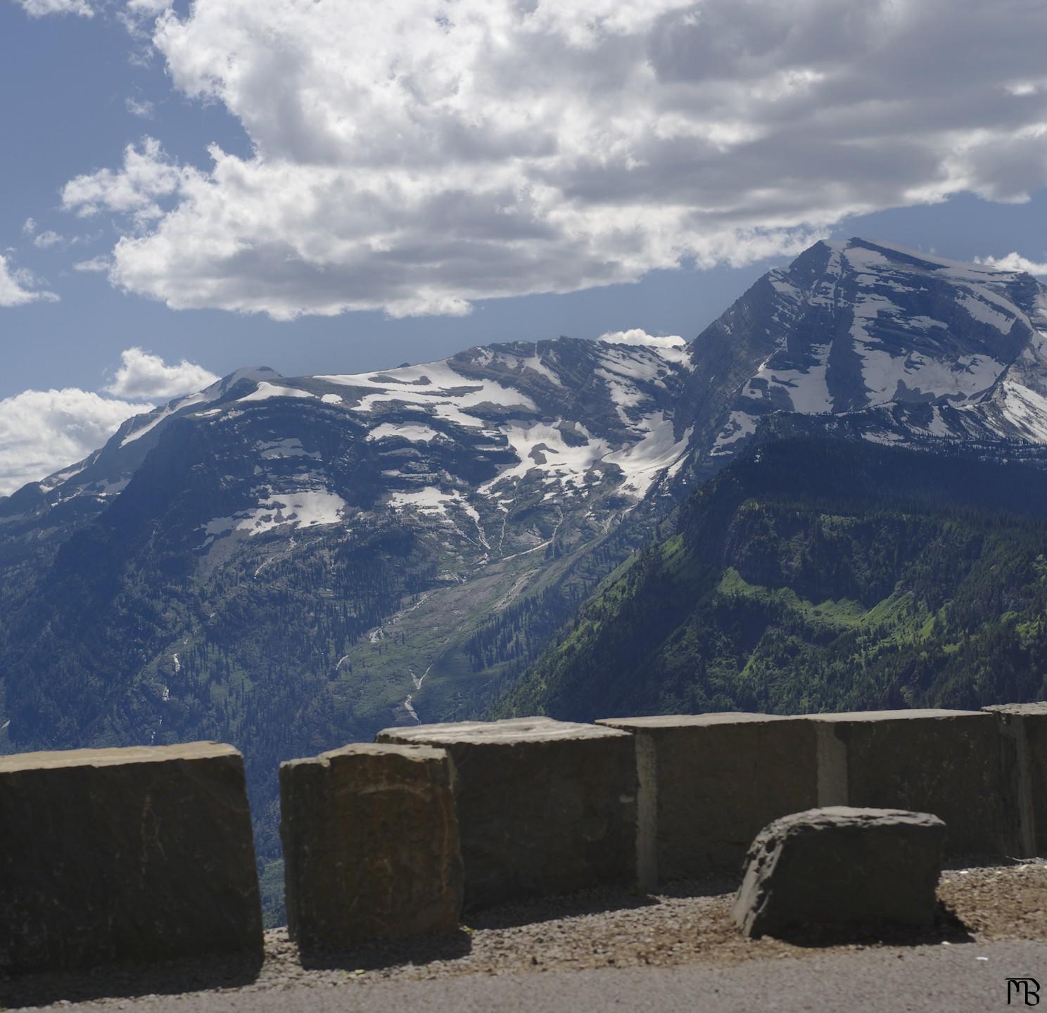
[[[63,999],[85,1003],[241,988],[257,981],[261,970],[260,953],[257,956],[225,956],[211,961],[117,964],[82,971],[0,973],[0,1009],[49,1006]]]

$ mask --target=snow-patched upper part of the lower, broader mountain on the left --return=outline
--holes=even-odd
[[[607,497],[609,514],[627,510],[671,475],[689,448],[691,429],[674,412],[689,369],[682,340],[570,338],[354,376],[242,369],[129,420],[86,460],[17,493],[4,514],[13,531],[51,514],[82,519],[124,492],[165,433],[193,426],[227,463],[215,497],[198,504],[222,504],[199,518],[201,554],[393,511],[443,522],[497,559],[549,541],[572,511],[596,518]],[[533,518],[513,523],[525,504]],[[594,523],[605,530],[606,517]]]

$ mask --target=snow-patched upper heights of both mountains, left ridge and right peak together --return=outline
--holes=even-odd
[[[605,528],[678,494],[781,412],[879,442],[1044,443],[1047,289],[852,239],[770,271],[686,346],[560,338],[354,376],[241,369],[129,420],[86,460],[0,500],[0,519],[82,523],[184,422],[228,434],[226,493],[251,463],[202,521],[201,550],[388,509],[443,522],[490,562],[548,541],[565,512],[597,517],[606,500]],[[514,525],[522,503],[556,519]]]

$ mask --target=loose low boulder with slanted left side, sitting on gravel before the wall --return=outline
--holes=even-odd
[[[732,918],[753,937],[809,923],[928,925],[944,839],[937,816],[903,809],[783,816],[753,841]]]

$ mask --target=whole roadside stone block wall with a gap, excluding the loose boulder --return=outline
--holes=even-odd
[[[465,907],[737,876],[812,807],[929,812],[946,853],[1047,855],[1047,703],[389,728],[281,769],[305,947],[451,928]],[[261,953],[231,746],[0,758],[0,970]]]

